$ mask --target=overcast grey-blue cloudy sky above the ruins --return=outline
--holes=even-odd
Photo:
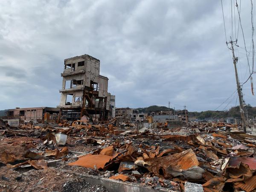
[[[223,3],[229,37],[230,0]],[[250,51],[250,0],[242,3]],[[116,107],[170,101],[176,109],[214,110],[236,90],[225,42],[220,0],[0,0],[0,110],[59,105],[64,59],[83,54],[100,60]],[[244,82],[249,73],[241,28],[238,44]],[[243,91],[256,106],[250,82]],[[238,105],[236,95],[218,110]]]

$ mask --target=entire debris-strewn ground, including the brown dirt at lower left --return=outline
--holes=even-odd
[[[0,191],[108,192],[82,175],[160,191],[256,190],[256,136],[238,125],[0,124]]]

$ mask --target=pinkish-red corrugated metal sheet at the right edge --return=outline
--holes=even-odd
[[[236,167],[239,163],[247,164],[251,170],[256,170],[256,158],[253,157],[230,157],[228,166]]]

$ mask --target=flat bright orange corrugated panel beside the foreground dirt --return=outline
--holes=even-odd
[[[72,166],[82,166],[82,167],[89,167],[93,168],[94,166],[97,167],[97,169],[103,169],[106,163],[108,163],[112,159],[109,155],[85,155],[84,157],[79,158],[79,160],[69,163],[68,165]]]

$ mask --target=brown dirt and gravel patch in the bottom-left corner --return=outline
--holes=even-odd
[[[85,182],[75,174],[89,173],[97,175],[92,169],[78,166],[68,166],[61,162],[56,167],[37,170],[34,168],[9,169],[0,166],[0,191],[12,192],[46,192],[46,191],[85,191],[107,192],[105,187]],[[99,189],[98,189],[99,188]]]

